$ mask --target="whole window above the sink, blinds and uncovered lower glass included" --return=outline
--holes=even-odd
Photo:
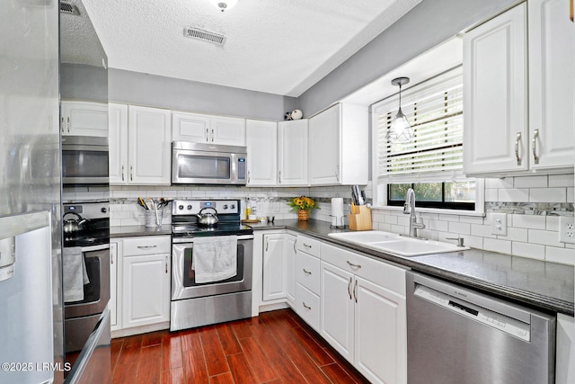
[[[476,182],[463,174],[462,67],[402,92],[410,143],[385,139],[398,105],[397,94],[373,105],[378,205],[403,206],[413,188],[418,207],[476,210]]]

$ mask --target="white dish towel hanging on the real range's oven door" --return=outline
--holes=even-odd
[[[237,274],[237,236],[196,237],[192,255],[196,282],[222,281]]]

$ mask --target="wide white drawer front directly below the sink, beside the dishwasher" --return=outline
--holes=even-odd
[[[405,269],[400,266],[325,243],[322,260],[405,296]]]

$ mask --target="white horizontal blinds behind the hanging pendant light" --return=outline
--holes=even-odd
[[[414,130],[410,143],[390,144],[385,139],[398,106],[398,94],[374,105],[378,180],[417,183],[464,178],[462,68],[402,92],[402,110]]]

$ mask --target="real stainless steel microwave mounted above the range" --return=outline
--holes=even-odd
[[[246,147],[172,143],[172,183],[245,185],[246,174]]]

